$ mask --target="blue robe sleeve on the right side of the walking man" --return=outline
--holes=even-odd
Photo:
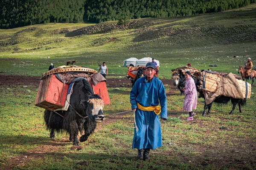
[[[159,96],[159,101],[160,101],[160,105],[161,105],[160,117],[167,119],[166,92],[165,92],[165,88],[163,86],[162,81],[160,82],[159,87],[158,87],[158,96]]]

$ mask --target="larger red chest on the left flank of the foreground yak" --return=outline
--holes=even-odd
[[[49,75],[40,81],[35,105],[48,110],[64,107],[69,84],[59,81],[55,75]]]

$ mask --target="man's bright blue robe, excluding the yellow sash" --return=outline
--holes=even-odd
[[[160,117],[167,119],[166,92],[162,81],[153,78],[151,82],[146,77],[139,78],[130,92],[131,109],[137,108],[137,103],[144,107],[157,106],[160,102]],[[134,128],[132,148],[156,149],[162,146],[160,120],[154,111],[136,109],[135,121],[138,132]]]

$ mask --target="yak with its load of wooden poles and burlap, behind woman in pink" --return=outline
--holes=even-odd
[[[236,104],[239,105],[239,112],[242,112],[242,106],[250,98],[251,84],[242,81],[241,76],[209,70],[200,71],[192,67],[172,69],[174,85],[180,89],[180,92],[182,92],[182,88],[186,84],[184,76],[186,71],[191,73],[195,81],[197,91],[199,92],[198,97],[205,99],[203,116],[211,112],[213,102],[227,104],[231,101],[233,107],[230,114],[233,114]],[[208,112],[206,113],[207,109]]]

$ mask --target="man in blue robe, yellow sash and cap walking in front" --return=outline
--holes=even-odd
[[[134,138],[132,148],[138,150],[138,159],[150,159],[150,149],[162,147],[160,118],[167,119],[165,87],[154,76],[156,66],[149,62],[145,76],[139,78],[130,92],[131,109],[134,110]],[[161,107],[158,106],[160,103]]]

